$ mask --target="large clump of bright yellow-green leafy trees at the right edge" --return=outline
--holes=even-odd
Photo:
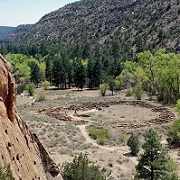
[[[126,61],[121,72],[121,85],[133,88],[140,83],[142,90],[165,104],[176,103],[180,97],[180,55],[166,54],[164,49],[155,54],[144,51],[137,62]]]

